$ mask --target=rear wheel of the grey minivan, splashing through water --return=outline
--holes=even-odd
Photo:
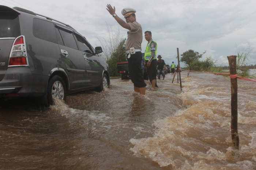
[[[60,76],[53,76],[48,84],[48,103],[54,104],[54,97],[66,101],[67,90],[63,79]]]

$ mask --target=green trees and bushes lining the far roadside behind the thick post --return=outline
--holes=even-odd
[[[251,51],[251,50],[250,50]],[[240,77],[256,77],[256,75],[251,75],[249,69],[256,69],[256,64],[247,65],[246,62],[249,62],[250,51],[248,53],[245,52],[237,52],[237,76]],[[203,54],[205,54],[204,51]],[[191,71],[204,71],[204,72],[214,72],[214,73],[229,73],[229,66],[216,66],[216,61],[212,57],[206,57],[203,61],[199,61],[202,58],[203,54],[199,54],[194,50],[185,51],[181,54],[181,62],[185,63],[183,69],[191,70]]]

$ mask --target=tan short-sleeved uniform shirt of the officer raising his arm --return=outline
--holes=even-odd
[[[131,30],[127,32],[128,37],[125,44],[125,50],[130,50],[132,47],[141,50],[141,43],[143,39],[142,26],[136,21],[128,24],[130,25]]]

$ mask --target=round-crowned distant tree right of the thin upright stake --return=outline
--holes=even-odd
[[[206,53],[206,51],[204,51],[203,54],[204,53]],[[203,54],[199,54],[194,50],[188,50],[181,54],[182,57],[180,58],[180,61],[188,65],[189,70],[191,70],[191,64],[195,61],[199,61],[199,58],[202,58]]]

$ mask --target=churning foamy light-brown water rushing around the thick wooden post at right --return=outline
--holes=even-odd
[[[177,96],[187,109],[155,121],[154,136],[131,139],[134,147],[130,150],[173,169],[256,169],[256,105],[244,97],[255,96],[255,92],[245,94],[240,88],[244,90],[238,96],[240,150],[234,151],[228,80],[220,78],[218,84],[211,85],[213,82],[185,78],[183,93]]]

